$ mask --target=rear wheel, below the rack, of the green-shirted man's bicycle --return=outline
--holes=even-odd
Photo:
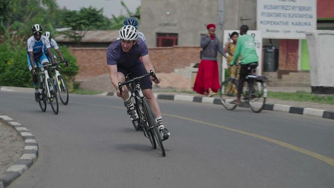
[[[253,112],[260,112],[267,98],[266,84],[261,80],[254,80],[249,87],[248,99],[249,105]]]

